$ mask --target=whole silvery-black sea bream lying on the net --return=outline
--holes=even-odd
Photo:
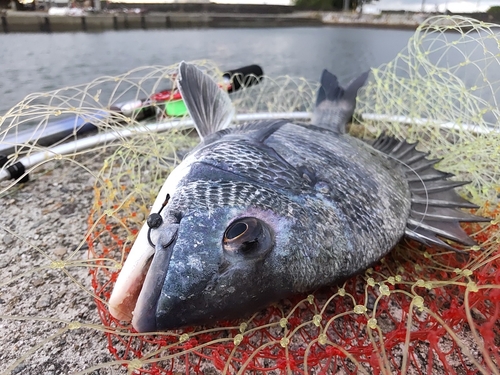
[[[171,173],[118,277],[113,316],[139,332],[247,316],[334,284],[403,237],[473,245],[482,218],[415,144],[345,134],[367,73],[345,90],[327,71],[313,125],[265,120],[228,128],[225,92],[181,63],[179,88],[201,143]],[[444,242],[441,238],[451,240]]]

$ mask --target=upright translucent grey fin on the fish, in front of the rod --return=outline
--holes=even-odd
[[[234,115],[231,99],[212,78],[183,61],[177,79],[179,91],[202,140],[230,125]]]

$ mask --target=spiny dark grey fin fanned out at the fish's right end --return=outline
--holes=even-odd
[[[477,208],[455,191],[456,187],[467,182],[448,180],[451,174],[434,168],[440,160],[426,159],[427,154],[417,151],[416,145],[385,135],[372,145],[398,161],[405,171],[412,202],[406,236],[425,245],[454,251],[459,251],[455,244],[475,245],[460,222],[487,222],[490,219],[461,211],[460,208]]]

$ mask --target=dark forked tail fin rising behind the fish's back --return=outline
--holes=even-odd
[[[323,70],[312,123],[344,134],[345,126],[354,113],[356,95],[361,86],[365,84],[368,73],[361,74],[344,89],[340,87],[335,75],[326,69]]]

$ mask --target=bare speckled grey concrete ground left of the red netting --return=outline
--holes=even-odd
[[[97,156],[91,168],[98,171],[102,160]],[[118,365],[92,370],[113,360],[104,334],[85,327],[99,324],[88,270],[78,265],[87,256],[79,242],[87,230],[93,183],[78,165],[57,161],[0,196],[1,374],[125,372]],[[54,268],[60,260],[77,265]],[[70,322],[84,326],[68,329]]]

